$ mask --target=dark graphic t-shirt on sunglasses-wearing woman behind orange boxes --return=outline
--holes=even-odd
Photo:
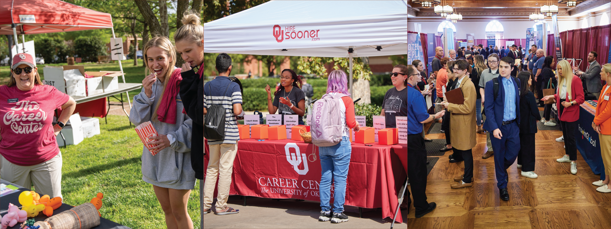
[[[393,87],[384,95],[382,108],[384,109],[384,117],[386,117],[386,128],[396,128],[397,116],[408,116],[408,93],[407,87],[398,91],[397,87]]]

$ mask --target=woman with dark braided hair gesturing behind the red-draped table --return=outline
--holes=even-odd
[[[305,114],[305,94],[301,90],[301,78],[295,71],[290,69],[282,70],[280,73],[280,87],[274,92],[274,98],[271,98],[269,85],[266,85],[265,91],[268,93],[268,111],[269,114],[281,115],[299,115],[299,125],[305,125],[303,116]],[[284,116],[282,117],[284,123]]]

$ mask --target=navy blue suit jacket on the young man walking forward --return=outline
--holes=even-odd
[[[499,129],[500,126],[503,126],[503,110],[505,108],[505,87],[503,87],[502,76],[499,76],[499,95],[497,99],[494,100],[494,81],[486,82],[486,87],[484,87],[485,97],[489,98],[484,101],[484,109],[486,110],[486,122],[484,122],[483,128],[487,131],[494,131],[495,129]],[[519,80],[516,82],[514,78],[510,78],[513,81],[513,86],[516,89],[516,122],[520,123],[520,88],[519,88]],[[505,134],[513,134],[513,133],[502,133],[503,136]],[[518,134],[518,133],[515,133]],[[492,137],[492,136],[490,136]]]

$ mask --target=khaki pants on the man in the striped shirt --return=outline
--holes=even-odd
[[[237,143],[237,142],[236,142]],[[238,144],[209,145],[210,161],[206,170],[205,183],[203,184],[203,208],[210,209],[214,199],[214,185],[219,178],[218,196],[216,197],[216,211],[222,211],[227,206],[229,198],[229,186],[233,173],[233,159],[238,153]]]

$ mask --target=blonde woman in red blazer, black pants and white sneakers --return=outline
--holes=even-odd
[[[562,134],[565,136],[566,154],[556,159],[558,162],[571,162],[571,173],[577,173],[577,144],[575,142],[575,128],[579,119],[579,104],[584,103],[584,86],[579,77],[573,75],[571,65],[566,60],[560,60],[556,65],[558,74],[558,87],[555,95],[543,97],[543,101],[556,100],[558,107],[558,119],[562,126]]]

